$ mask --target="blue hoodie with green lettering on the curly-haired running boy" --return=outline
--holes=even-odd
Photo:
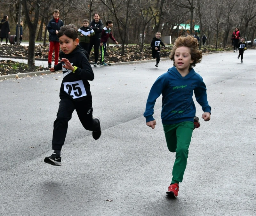
[[[154,105],[161,94],[163,96],[161,112],[163,124],[194,122],[196,106],[192,98],[193,91],[203,111],[211,113],[203,78],[193,68],[189,68],[189,73],[185,77],[180,75],[175,66],[169,68],[166,73],[157,78],[150,89],[144,112],[146,122],[154,120]]]

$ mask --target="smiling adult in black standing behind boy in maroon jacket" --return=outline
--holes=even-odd
[[[90,26],[92,27],[95,35],[90,38],[90,47],[88,54],[90,55],[92,47],[94,46],[94,67],[97,67],[97,62],[99,59],[99,48],[100,48],[100,38],[101,32],[103,29],[103,22],[100,19],[100,15],[98,13],[94,14],[94,19],[92,20]]]

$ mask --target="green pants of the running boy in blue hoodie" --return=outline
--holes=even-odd
[[[194,123],[184,121],[172,125],[164,125],[164,134],[169,151],[176,152],[172,168],[172,182],[182,182],[187,166],[188,147],[191,142]]]

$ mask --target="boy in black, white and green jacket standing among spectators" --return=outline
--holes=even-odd
[[[93,29],[89,26],[89,20],[84,19],[84,25],[78,29],[78,34],[80,34],[79,45],[84,48],[86,52],[89,53],[90,37],[95,35]]]

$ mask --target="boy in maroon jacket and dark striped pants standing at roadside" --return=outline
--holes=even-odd
[[[108,66],[108,64],[106,64],[104,62],[104,57],[105,57],[105,53],[106,53],[106,48],[107,48],[107,41],[108,38],[110,37],[110,39],[114,42],[116,42],[116,44],[118,44],[118,42],[116,41],[116,39],[113,37],[112,33],[111,33],[111,29],[113,27],[113,22],[112,20],[107,20],[106,22],[106,27],[103,28],[102,32],[101,32],[101,39],[100,39],[100,66]]]

